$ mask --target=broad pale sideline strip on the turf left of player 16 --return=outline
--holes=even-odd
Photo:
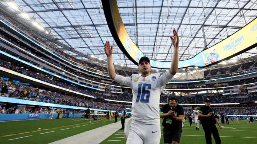
[[[125,119],[125,123],[127,120],[131,118]],[[90,143],[90,144],[98,144],[103,140],[107,139],[113,133],[121,128],[121,122],[111,123],[106,126],[98,127],[93,130],[86,131],[84,133],[80,133],[74,136],[67,137],[65,139],[61,139],[55,142],[51,142],[49,144],[64,144],[64,143]]]

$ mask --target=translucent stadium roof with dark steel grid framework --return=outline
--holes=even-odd
[[[257,16],[255,0],[118,0],[117,3],[133,42],[146,56],[159,61],[172,58],[169,36],[173,35],[173,28],[180,36],[179,60],[185,60],[235,33]],[[4,0],[0,9],[29,27],[37,23],[39,29],[35,30],[49,40],[57,40],[61,50],[77,59],[106,65],[104,44],[111,41],[116,66],[137,69],[112,38],[101,0]],[[255,47],[235,59],[251,59],[256,54]],[[201,78],[205,69],[208,68],[181,69],[177,77],[184,78],[183,71],[189,70],[189,79]]]

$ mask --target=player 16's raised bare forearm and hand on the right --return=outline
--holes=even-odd
[[[173,29],[173,37],[170,36],[170,39],[173,45],[173,56],[169,73],[175,75],[179,69],[179,35],[175,28]]]

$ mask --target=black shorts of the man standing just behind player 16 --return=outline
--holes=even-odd
[[[166,128],[163,128],[162,131],[163,131],[164,143],[172,143],[172,141],[175,141],[175,142],[180,141],[182,129],[172,131],[172,130],[167,130]]]

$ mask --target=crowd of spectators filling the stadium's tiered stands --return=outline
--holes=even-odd
[[[13,25],[16,30],[21,32],[22,34],[25,34],[27,37],[32,38],[32,40],[35,40],[37,43],[45,46],[48,50],[52,51],[53,53],[57,54],[58,56],[62,57],[63,59],[68,59],[69,62],[72,64],[75,64],[79,67],[82,67],[84,69],[90,70],[92,72],[96,72],[98,74],[102,75],[108,75],[107,74],[107,68],[103,66],[99,66],[94,63],[89,63],[80,59],[76,59],[72,56],[69,56],[68,54],[64,53],[61,50],[58,50],[54,45],[51,43],[46,42],[43,38],[39,37],[37,34],[34,34],[33,32],[28,31],[25,27],[22,25],[16,23],[14,20],[5,17],[3,14],[0,13],[0,16],[2,19],[9,21],[9,24]],[[2,27],[3,28],[3,27]],[[4,28],[3,28],[4,29]],[[42,55],[38,55],[35,53],[32,48],[26,47],[24,44],[21,42],[17,42],[17,40],[13,40],[10,37],[5,36],[4,34],[0,33],[0,37],[2,37],[5,40],[8,40],[9,42],[15,44],[17,47],[12,47],[14,50],[18,50],[17,48],[22,48],[23,50],[27,51],[28,53],[32,53],[33,55],[39,57],[40,59],[43,59],[47,62],[50,62],[51,64],[64,69],[74,75],[77,75],[78,77],[85,77],[79,73],[74,72],[74,70],[69,69],[68,67],[65,67],[65,65],[61,62],[56,62],[52,59],[46,58]],[[20,66],[11,64],[9,62],[6,62],[2,59],[0,59],[0,66],[4,67],[6,69],[11,69],[15,72],[19,72],[23,75],[30,76],[32,78],[36,78],[38,80],[48,82],[53,85],[57,85],[63,88],[67,88],[73,91],[77,91],[83,94],[88,94],[91,96],[94,96],[95,98],[102,98],[102,99],[111,99],[111,100],[119,100],[119,101],[132,101],[132,95],[131,94],[112,94],[112,93],[107,93],[107,92],[99,92],[95,93],[94,91],[91,91],[87,88],[82,88],[82,87],[74,87],[71,85],[67,85],[64,82],[56,81],[55,79],[50,79],[44,76],[41,76],[35,72],[22,69]],[[241,65],[237,66],[232,66],[231,69],[228,71],[226,69],[214,69],[210,71],[204,72],[206,77],[212,75],[239,75],[242,73],[245,73],[245,70],[250,69],[256,69],[257,65],[256,62],[245,62],[242,63]],[[130,72],[130,71],[124,71],[124,70],[116,70],[119,75],[125,75],[129,76],[135,72]],[[85,77],[88,80],[92,80],[95,82],[102,82],[101,79],[94,78],[94,76],[87,75]],[[81,80],[84,80],[81,78]],[[224,85],[237,85],[237,84],[245,84],[245,83],[251,83],[251,82],[256,82],[255,79],[250,79],[250,80],[245,80],[241,82],[232,82],[232,83],[226,83]],[[112,85],[118,85],[116,82],[112,82]],[[202,85],[200,87],[213,87],[213,85]],[[10,91],[9,91],[10,88]],[[176,87],[176,88],[195,88],[195,87],[188,87],[188,86],[183,86],[183,87]],[[199,88],[199,86],[198,86]],[[85,97],[79,97],[76,95],[67,95],[67,94],[62,94],[60,92],[52,92],[52,91],[45,91],[45,90],[39,90],[35,87],[32,86],[27,86],[27,85],[20,85],[16,84],[13,82],[8,82],[2,79],[1,81],[1,92],[3,94],[7,94],[9,97],[12,98],[23,98],[23,99],[31,99],[35,101],[42,101],[42,102],[47,102],[47,103],[53,103],[53,104],[63,104],[63,105],[71,105],[71,106],[78,106],[78,107],[90,107],[90,108],[96,108],[96,109],[121,109],[121,107],[131,107],[130,104],[124,105],[124,104],[113,104],[110,102],[97,102],[93,100],[89,100]],[[251,101],[256,101],[257,96],[256,93],[252,94],[247,94],[247,98],[236,98],[238,95],[233,95],[233,96],[222,96],[222,95],[214,95],[210,96],[209,98],[212,100],[213,103],[237,103],[237,102],[251,102]],[[160,103],[167,103],[167,99],[170,97],[170,95],[166,96],[161,96]],[[186,97],[186,96],[179,96],[179,103],[182,104],[202,104],[203,103],[203,97],[202,96],[194,96],[194,97]],[[256,107],[217,107],[219,111],[223,111],[226,114],[254,114],[256,115]]]

